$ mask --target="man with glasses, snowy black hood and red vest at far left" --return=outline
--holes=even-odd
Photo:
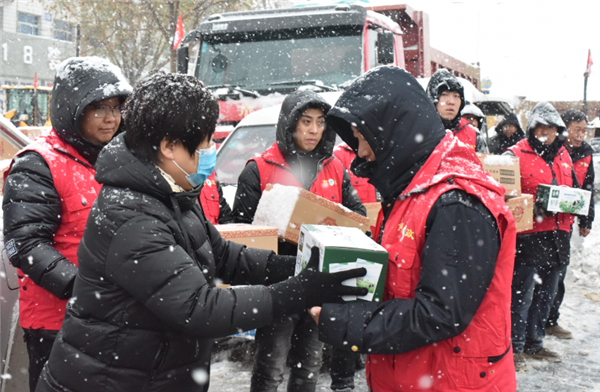
[[[14,158],[5,180],[4,240],[19,269],[19,325],[35,390],[71,297],[77,247],[100,185],[94,165],[121,124],[131,86],[97,57],[65,60],[50,102],[52,130]]]

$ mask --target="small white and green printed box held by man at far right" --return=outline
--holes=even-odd
[[[537,201],[546,211],[587,215],[592,192],[558,185],[538,185]]]

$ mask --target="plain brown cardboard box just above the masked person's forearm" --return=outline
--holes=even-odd
[[[228,241],[237,242],[249,248],[267,249],[277,253],[276,227],[231,223],[216,225],[215,228]]]

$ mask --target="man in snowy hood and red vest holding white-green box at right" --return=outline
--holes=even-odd
[[[558,137],[564,131],[564,122],[548,102],[533,108],[527,138],[504,153],[519,158],[523,193],[536,195],[541,184],[573,186],[571,157]],[[533,229],[517,236],[511,304],[517,370],[527,369],[525,358],[561,361],[559,354],[544,348],[543,339],[560,276],[569,264],[573,219],[571,214],[547,212],[536,203]]]

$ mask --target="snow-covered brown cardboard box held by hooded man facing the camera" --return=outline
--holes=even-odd
[[[356,227],[369,230],[369,218],[350,211],[305,189],[268,184],[263,192],[253,225],[277,227],[279,237],[298,243],[302,224]]]

